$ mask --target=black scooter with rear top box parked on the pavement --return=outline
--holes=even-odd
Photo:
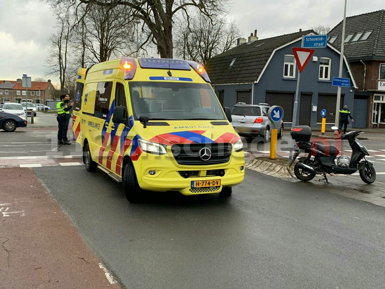
[[[331,129],[337,130],[333,126]],[[363,143],[356,139],[362,131],[350,131],[341,136],[341,139],[349,141],[352,148],[352,157],[339,156],[340,152],[333,144],[324,145],[320,142],[311,142],[311,129],[309,126],[296,126],[291,129],[290,135],[296,141],[298,148],[295,150],[295,155],[289,163],[289,167],[301,152],[308,153],[305,158],[299,158],[294,166],[295,176],[301,181],[310,181],[316,175],[323,175],[322,180],[328,182],[326,174],[343,174],[351,175],[357,170],[360,172],[361,179],[371,184],[376,180],[376,171],[373,164],[368,162],[365,156],[369,155],[368,150]],[[314,156],[314,159],[311,158]]]

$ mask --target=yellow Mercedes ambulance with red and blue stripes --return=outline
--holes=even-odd
[[[228,197],[244,178],[242,141],[202,66],[188,60],[125,57],[77,75],[74,140],[87,171],[142,190]]]

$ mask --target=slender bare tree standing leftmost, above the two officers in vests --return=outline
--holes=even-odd
[[[68,49],[70,45],[70,22],[68,13],[62,13],[59,9],[57,16],[57,32],[49,37],[51,47],[45,60],[47,75],[59,76],[60,91],[64,91],[65,74],[67,71]]]

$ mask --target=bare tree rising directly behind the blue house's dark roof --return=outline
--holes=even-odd
[[[189,25],[184,28],[181,23],[177,30],[176,52],[183,59],[190,59],[201,64],[235,45],[240,37],[238,25],[226,17],[209,19],[204,15],[189,20]]]

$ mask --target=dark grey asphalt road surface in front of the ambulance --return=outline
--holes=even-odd
[[[83,166],[33,169],[127,288],[383,288],[385,208],[247,170],[229,200],[146,194]]]

